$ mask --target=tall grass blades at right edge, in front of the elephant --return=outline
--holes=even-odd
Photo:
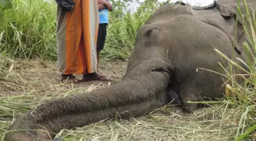
[[[242,107],[244,113],[240,117],[238,131],[236,134],[236,140],[243,140],[243,139],[252,139],[255,138],[255,130],[256,130],[256,62],[255,62],[255,51],[256,51],[256,37],[255,37],[255,30],[256,30],[256,20],[255,14],[253,12],[249,12],[246,0],[241,0],[244,3],[244,9],[246,9],[246,13],[242,14],[242,7],[238,7],[238,14],[244,23],[244,33],[246,33],[246,37],[248,39],[248,43],[243,43],[244,49],[246,50],[247,60],[241,60],[240,58],[236,58],[237,61],[242,62],[245,66],[247,66],[248,71],[244,70],[242,66],[239,66],[236,62],[233,62],[225,56],[225,54],[221,54],[221,52],[216,52],[229,60],[229,62],[237,68],[240,68],[244,71],[245,75],[240,74],[233,74],[228,76],[231,78],[233,85],[227,85],[227,89],[229,89],[229,93],[232,94],[227,95],[227,98],[233,102],[233,108]],[[238,0],[238,3],[240,0]],[[249,57],[252,58],[249,59]],[[238,75],[243,77],[244,83],[242,85],[236,81],[236,77],[234,75]],[[229,97],[230,96],[230,97]],[[236,97],[236,98],[235,98]]]

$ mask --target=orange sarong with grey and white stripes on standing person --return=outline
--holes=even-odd
[[[74,2],[72,12],[63,12],[57,7],[57,58],[62,75],[94,73],[98,66],[97,0]]]

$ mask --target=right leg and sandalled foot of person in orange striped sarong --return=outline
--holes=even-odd
[[[109,80],[104,75],[98,73],[98,5],[96,1],[83,1],[83,41],[85,42],[85,62],[87,64],[87,72],[83,74],[81,81],[91,80]]]

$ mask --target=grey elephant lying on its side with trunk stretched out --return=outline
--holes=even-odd
[[[247,0],[248,6],[255,8],[253,1]],[[244,11],[242,3],[240,7]],[[191,112],[199,105],[187,101],[223,97],[221,75],[196,70],[223,72],[218,66],[221,57],[214,48],[229,58],[244,59],[242,42],[246,35],[242,22],[238,22],[237,37],[233,38],[235,24],[236,0],[219,0],[201,8],[161,7],[139,29],[122,81],[90,94],[40,104],[12,123],[5,140],[52,140],[63,128],[83,127],[115,117],[116,113],[122,118],[138,117],[164,106],[172,98],[184,111]]]

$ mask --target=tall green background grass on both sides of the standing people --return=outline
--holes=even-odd
[[[160,5],[158,0],[147,0],[131,13],[126,3],[111,3],[115,9],[109,12],[110,23],[101,57],[126,60],[138,28]],[[56,8],[54,0],[12,0],[12,7],[1,9],[1,54],[10,58],[57,60]]]

